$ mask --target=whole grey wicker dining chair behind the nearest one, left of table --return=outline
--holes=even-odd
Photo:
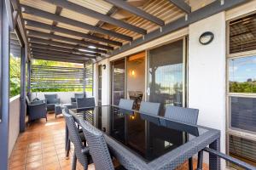
[[[89,148],[85,146],[86,141],[81,139],[79,134],[79,130],[74,121],[74,117],[67,113],[67,111],[63,111],[63,116],[65,117],[65,121],[67,123],[67,129],[69,134],[69,139],[74,145],[74,154],[73,154],[73,165],[72,169],[76,169],[77,160],[84,167],[84,170],[88,168],[89,163]]]

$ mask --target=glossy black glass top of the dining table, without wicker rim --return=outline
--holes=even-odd
[[[166,154],[208,131],[162,116],[150,116],[139,111],[128,111],[117,106],[70,109],[118,141],[146,162]]]

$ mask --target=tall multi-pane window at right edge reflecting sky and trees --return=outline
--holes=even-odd
[[[228,153],[255,166],[256,14],[231,20],[228,29]]]

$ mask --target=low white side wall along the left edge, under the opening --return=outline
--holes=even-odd
[[[9,156],[20,133],[20,95],[9,99]]]

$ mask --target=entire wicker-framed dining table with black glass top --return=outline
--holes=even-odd
[[[209,127],[125,110],[115,105],[66,111],[77,122],[83,119],[100,129],[112,155],[127,169],[175,169],[207,146],[220,149],[220,131]],[[220,169],[217,156],[210,154],[209,168]]]

